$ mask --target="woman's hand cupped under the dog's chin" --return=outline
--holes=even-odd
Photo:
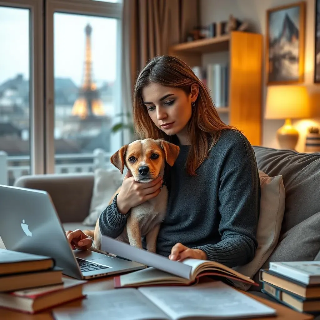
[[[147,183],[137,182],[128,170],[117,195],[118,211],[126,214],[132,207],[156,197],[161,191],[162,183],[161,177]]]

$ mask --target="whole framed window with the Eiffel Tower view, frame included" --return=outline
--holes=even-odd
[[[122,5],[47,0],[46,14],[46,172],[91,172],[121,143]]]

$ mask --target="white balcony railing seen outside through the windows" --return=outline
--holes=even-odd
[[[93,172],[97,168],[108,168],[110,154],[103,149],[93,153],[55,155],[55,173]],[[23,175],[30,174],[30,156],[8,156],[0,151],[0,184],[13,185]]]

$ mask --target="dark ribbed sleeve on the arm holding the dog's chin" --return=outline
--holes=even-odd
[[[99,227],[102,235],[116,238],[119,236],[126,224],[130,211],[127,214],[122,214],[117,208],[117,195],[114,197],[112,204],[100,214]]]

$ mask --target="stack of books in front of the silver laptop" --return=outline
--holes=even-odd
[[[0,307],[36,313],[83,298],[85,282],[62,277],[50,257],[0,249]]]

